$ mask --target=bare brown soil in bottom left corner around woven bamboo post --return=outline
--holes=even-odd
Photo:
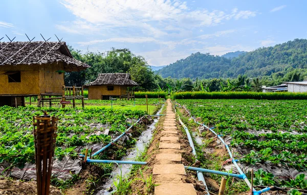
[[[0,195],[36,195],[37,186],[35,181],[21,182],[19,180],[7,179],[0,177]],[[50,186],[50,195],[61,195],[59,189]]]

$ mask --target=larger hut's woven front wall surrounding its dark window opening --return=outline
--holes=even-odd
[[[9,82],[7,71],[20,71],[20,82]],[[38,94],[37,65],[5,65],[0,67],[0,94]]]

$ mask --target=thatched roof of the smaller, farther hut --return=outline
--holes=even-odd
[[[131,80],[128,73],[103,73],[99,74],[97,79],[87,86],[91,85],[126,85],[137,86],[137,82]]]

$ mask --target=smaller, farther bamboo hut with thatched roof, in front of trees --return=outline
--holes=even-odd
[[[127,73],[103,73],[86,85],[89,87],[89,100],[109,100],[112,97],[134,99],[134,93],[127,92],[127,87],[137,86]]]

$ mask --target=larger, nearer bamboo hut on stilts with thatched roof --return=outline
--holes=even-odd
[[[24,106],[26,96],[37,96],[38,106],[60,101],[64,72],[87,67],[73,58],[65,42],[0,42],[0,106]]]

